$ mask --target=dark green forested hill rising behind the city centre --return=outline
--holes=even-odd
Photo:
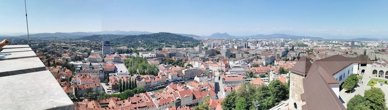
[[[173,33],[153,33],[141,35],[128,35],[111,39],[113,46],[144,47],[144,48],[163,48],[163,46],[177,48],[194,47],[199,45],[199,40],[191,37],[182,36]],[[185,43],[184,43],[185,42]]]

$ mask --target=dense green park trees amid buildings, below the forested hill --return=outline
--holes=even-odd
[[[128,68],[130,74],[140,74],[140,75],[158,75],[158,67],[153,64],[148,64],[145,58],[135,58],[130,57],[123,60],[124,65]]]

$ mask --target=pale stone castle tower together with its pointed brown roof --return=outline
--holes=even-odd
[[[304,93],[303,78],[306,77],[310,66],[310,60],[307,57],[301,57],[290,69],[289,110],[302,110],[301,94]]]

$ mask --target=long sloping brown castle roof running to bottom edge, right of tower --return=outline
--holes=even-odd
[[[320,65],[309,70],[308,76],[303,78],[304,93],[301,95],[301,99],[306,104],[302,106],[302,110],[346,110],[331,89],[329,85],[331,82],[326,81],[329,76]]]

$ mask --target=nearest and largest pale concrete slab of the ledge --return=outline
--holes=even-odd
[[[74,110],[49,70],[0,77],[3,110]]]

